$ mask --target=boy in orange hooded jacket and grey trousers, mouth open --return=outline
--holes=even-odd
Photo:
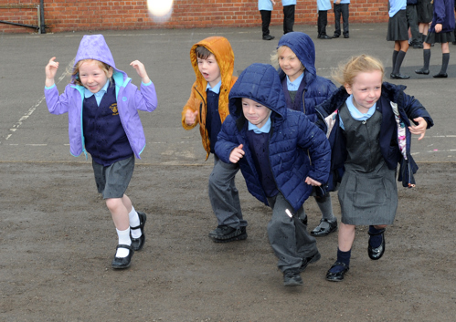
[[[214,154],[214,169],[209,176],[208,194],[217,217],[217,228],[209,233],[215,243],[228,243],[247,238],[247,222],[242,217],[235,176],[237,164],[225,165],[214,147],[222,123],[227,118],[229,89],[233,76],[234,53],[228,39],[209,36],[190,49],[190,61],[196,81],[182,111],[182,126],[191,130],[199,124],[206,160]]]

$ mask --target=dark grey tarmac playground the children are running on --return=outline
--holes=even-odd
[[[328,26],[332,31],[333,26]],[[388,76],[393,43],[387,24],[351,25],[350,38],[320,40],[316,26],[295,26],[313,37],[316,67],[330,78],[341,60],[366,53],[383,60]],[[453,321],[456,119],[456,46],[450,45],[449,78],[416,75],[422,50],[410,48],[401,72],[406,93],[429,110],[435,126],[414,138],[417,188],[399,185],[396,222],[377,262],[366,254],[366,227],[356,231],[350,271],[342,283],[324,280],[334,263],[337,235],[318,239],[322,259],[304,273],[302,287],[285,288],[270,249],[270,209],[237,176],[245,242],[214,244],[216,225],[207,198],[213,159],[205,160],[198,130],[183,130],[180,113],[195,79],[190,47],[207,36],[226,36],[235,74],[253,62],[269,63],[272,41],[258,28],[103,31],[116,62],[133,83],[129,66],[143,62],[155,84],[158,108],[141,114],[147,146],[136,161],[129,194],[148,215],[146,244],[132,267],[111,270],[116,236],[96,193],[90,159],[69,154],[68,118],[48,113],[44,68],[60,63],[56,83],[69,82],[67,67],[84,33],[0,34],[0,320],[1,321]],[[432,47],[430,72],[440,70]],[[340,215],[336,194],[334,212]],[[310,227],[320,214],[304,204]]]

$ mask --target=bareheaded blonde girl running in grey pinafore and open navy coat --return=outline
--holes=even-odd
[[[410,133],[421,140],[433,125],[421,103],[404,93],[404,86],[382,82],[383,76],[383,65],[376,58],[352,57],[334,77],[343,86],[317,107],[325,121],[318,124],[329,134],[342,213],[337,260],[326,274],[328,281],[344,279],[356,225],[369,225],[369,258],[383,256],[385,230],[394,223],[398,208],[398,162],[398,180],[403,185],[408,185],[407,179],[414,183],[410,177],[418,167],[410,155]]]

